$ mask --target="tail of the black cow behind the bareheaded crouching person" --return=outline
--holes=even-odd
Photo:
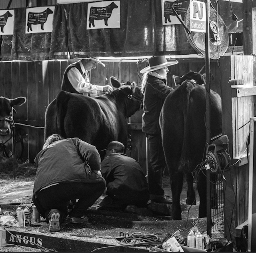
[[[69,96],[67,92],[61,91],[56,97],[57,104],[57,133],[66,138],[64,121],[67,112]]]

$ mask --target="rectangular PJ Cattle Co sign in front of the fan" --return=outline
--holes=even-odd
[[[190,31],[206,32],[206,7],[204,2],[190,2]]]

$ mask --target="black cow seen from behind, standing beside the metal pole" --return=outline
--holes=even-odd
[[[210,133],[214,137],[222,133],[221,98],[211,90]],[[172,189],[172,218],[181,219],[180,193],[186,176],[187,204],[195,204],[192,171],[205,156],[206,146],[206,90],[204,86],[189,80],[166,97],[160,114],[162,145],[169,169]],[[206,177],[197,175],[200,197],[199,218],[206,217]]]

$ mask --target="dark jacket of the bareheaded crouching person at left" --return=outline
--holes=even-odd
[[[100,170],[100,155],[95,146],[79,138],[54,141],[34,159],[38,165],[33,195],[40,189],[62,182],[96,183],[104,180]]]

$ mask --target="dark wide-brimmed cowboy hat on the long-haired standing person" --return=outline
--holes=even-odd
[[[177,64],[178,61],[174,59],[166,60],[165,56],[153,56],[148,59],[149,66],[140,70],[140,73],[151,72],[154,70],[160,70],[171,65]]]

